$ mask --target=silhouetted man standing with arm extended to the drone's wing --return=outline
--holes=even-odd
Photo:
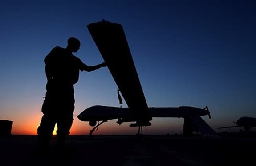
[[[66,48],[55,47],[45,57],[47,77],[46,95],[42,104],[43,116],[37,128],[37,146],[49,147],[53,130],[57,123],[57,147],[65,148],[65,139],[73,123],[74,88],[80,71],[94,71],[105,67],[106,63],[87,66],[72,53],[80,48],[80,41],[74,37],[68,39]]]

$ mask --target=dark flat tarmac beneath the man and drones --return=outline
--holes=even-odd
[[[255,165],[256,137],[225,135],[69,135],[72,151],[36,153],[36,135],[0,137],[2,166],[220,166]]]

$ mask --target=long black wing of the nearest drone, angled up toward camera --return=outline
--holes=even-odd
[[[87,28],[137,123],[152,120],[122,25],[101,21]]]

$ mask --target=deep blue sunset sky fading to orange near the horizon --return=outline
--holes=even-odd
[[[0,120],[12,134],[37,134],[45,96],[46,54],[81,41],[85,64],[103,62],[87,25],[122,24],[150,107],[208,106],[217,127],[256,117],[256,3],[253,0],[2,0],[0,2]],[[72,135],[92,128],[77,115],[93,105],[119,107],[107,68],[81,72],[75,87]],[[124,101],[124,100],[123,100]],[[126,107],[126,104],[123,104]],[[110,120],[95,134],[135,134]],[[145,134],[182,133],[183,119],[154,118]]]

